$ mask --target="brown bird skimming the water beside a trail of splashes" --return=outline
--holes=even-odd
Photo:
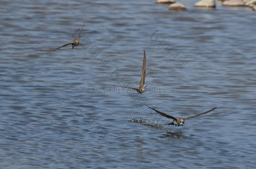
[[[146,105],[146,104],[145,104],[145,105]],[[147,106],[147,105],[146,105],[146,106]],[[149,106],[148,106],[148,107],[149,107]],[[152,108],[152,107],[149,107],[149,108],[151,108],[152,110],[154,110],[154,111],[156,111],[157,113],[161,114],[162,116],[165,116],[165,117],[167,117],[167,118],[169,118],[169,119],[173,119],[173,121],[172,121],[171,123],[168,123],[168,125],[183,126],[185,120],[188,120],[188,119],[191,119],[191,118],[193,118],[193,117],[196,117],[196,116],[200,116],[200,115],[209,113],[210,111],[213,111],[213,110],[214,110],[215,108],[217,108],[217,107],[212,108],[211,110],[206,111],[206,112],[204,112],[204,113],[197,114],[197,115],[194,115],[194,116],[191,116],[191,117],[187,117],[187,118],[176,118],[176,117],[173,117],[173,116],[171,116],[171,115],[165,114],[165,113],[163,113],[163,112],[161,112],[161,111],[158,111],[158,110],[156,110],[156,109],[154,109],[154,108]]]

